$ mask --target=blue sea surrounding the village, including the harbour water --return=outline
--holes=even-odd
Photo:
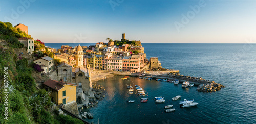
[[[80,44],[91,45],[95,43]],[[60,48],[65,43],[45,43]],[[77,46],[78,44],[74,44]],[[93,123],[256,123],[256,44],[248,43],[142,43],[147,58],[158,57],[161,66],[180,70],[181,75],[202,77],[223,84],[216,92],[198,92],[197,86],[181,88],[168,82],[121,76],[96,81],[106,89],[106,97],[85,119]],[[137,93],[127,94],[126,85],[144,88],[147,103],[140,103]],[[181,95],[181,100],[172,98]],[[155,103],[162,96],[165,103]],[[180,108],[179,101],[199,104]],[[134,103],[126,103],[135,100]],[[165,113],[164,106],[173,105],[174,112]]]

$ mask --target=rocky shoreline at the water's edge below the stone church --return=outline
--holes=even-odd
[[[79,108],[79,114],[82,118],[86,119],[93,119],[93,114],[90,113],[90,112],[82,112],[83,109],[89,109],[91,107],[95,107],[98,105],[99,101],[103,100],[103,98],[105,97],[105,87],[103,86],[100,86],[96,83],[93,83],[92,85],[92,90],[93,90],[93,93],[94,93],[94,98],[89,98],[88,101],[89,103],[88,104],[84,104],[82,107]]]

